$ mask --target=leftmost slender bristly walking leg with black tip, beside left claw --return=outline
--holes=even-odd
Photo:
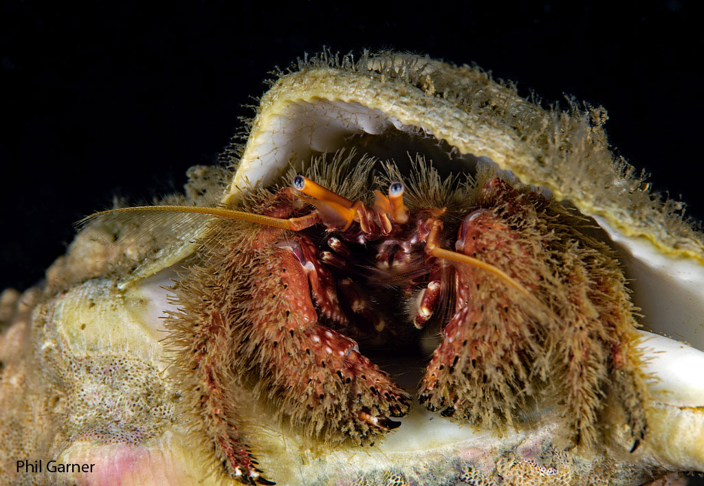
[[[214,456],[213,463],[222,464],[224,475],[244,484],[273,484],[260,476],[245,442],[237,399],[232,395],[236,385],[234,328],[217,307],[227,289],[213,287],[210,277],[207,268],[196,267],[189,278],[177,282],[174,291],[183,313],[170,316],[166,325],[172,331],[169,344],[176,351],[184,390],[183,417],[191,437],[201,440],[203,451]],[[220,296],[205,297],[208,290]]]

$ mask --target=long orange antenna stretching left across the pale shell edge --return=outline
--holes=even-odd
[[[77,225],[81,226],[89,220],[103,216],[106,214],[126,213],[128,211],[171,211],[175,213],[199,213],[210,214],[220,218],[230,218],[240,221],[250,221],[260,225],[272,226],[273,228],[281,228],[282,230],[300,231],[318,223],[318,215],[315,213],[301,216],[300,218],[279,219],[261,214],[246,213],[244,211],[235,211],[234,209],[225,208],[208,208],[202,206],[134,206],[133,208],[108,209],[107,211],[99,211],[93,213],[80,220]]]

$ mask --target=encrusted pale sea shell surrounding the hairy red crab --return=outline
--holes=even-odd
[[[237,206],[311,156],[355,147],[379,158],[421,152],[445,173],[491,164],[589,216],[617,251],[643,314],[652,399],[648,435],[630,452],[617,406],[597,453],[557,447],[559,424],[503,431],[458,425],[415,407],[373,447],[311,449],[238,390],[253,454],[278,484],[641,484],[704,471],[704,238],[679,204],[650,192],[608,149],[601,108],[542,108],[478,68],[429,58],[323,54],[298,62],[263,96],[234,175],[196,167],[171,203]],[[238,160],[239,159],[239,160]],[[227,179],[224,197],[218,192]],[[218,464],[177,416],[179,383],[161,316],[206,229],[88,227],[42,288],[2,294],[0,463],[10,482],[209,484]],[[121,237],[118,247],[103,244]],[[130,271],[125,270],[128,268]],[[8,323],[6,325],[5,323]],[[679,340],[665,337],[675,336]],[[608,428],[608,423],[614,424]],[[34,473],[17,461],[44,461]],[[95,463],[52,473],[46,462]]]

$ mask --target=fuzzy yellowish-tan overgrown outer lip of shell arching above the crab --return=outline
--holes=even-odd
[[[271,96],[293,96],[289,90],[303,85],[306,96],[360,100],[394,115],[402,106],[398,113],[411,111],[421,136],[431,130],[453,154],[489,156],[525,184],[548,187],[558,199],[579,200],[583,212],[601,214],[662,251],[702,259],[704,237],[685,216],[684,204],[651,192],[647,174],[610,151],[602,107],[568,99],[566,108],[543,108],[536,96],[519,96],[512,82],[494,79],[478,66],[393,51],[363,51],[358,57],[323,51],[299,58],[278,75],[270,82]],[[365,77],[383,93],[375,94],[378,104],[365,91],[367,81],[359,84]],[[258,130],[258,115],[273,103],[263,98],[251,130]],[[246,152],[241,142],[236,137],[224,154],[233,168]]]

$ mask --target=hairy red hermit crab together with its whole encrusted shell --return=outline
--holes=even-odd
[[[302,59],[227,165],[94,213],[44,288],[3,294],[8,478],[703,471],[704,240],[612,156],[604,121],[474,67]],[[34,456],[95,467],[15,467]]]

